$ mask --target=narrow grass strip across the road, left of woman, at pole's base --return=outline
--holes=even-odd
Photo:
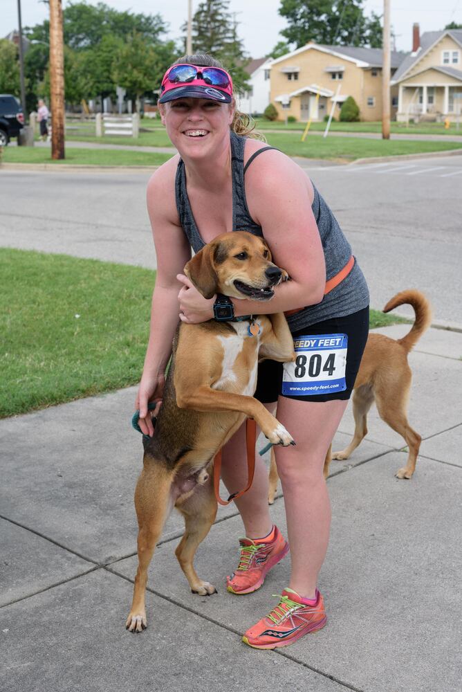
[[[70,163],[91,166],[160,166],[172,154],[157,154],[149,152],[130,152],[118,149],[71,149],[65,150],[66,158],[53,161],[51,149],[35,147],[5,147],[1,161],[4,163],[53,163],[59,165]]]

